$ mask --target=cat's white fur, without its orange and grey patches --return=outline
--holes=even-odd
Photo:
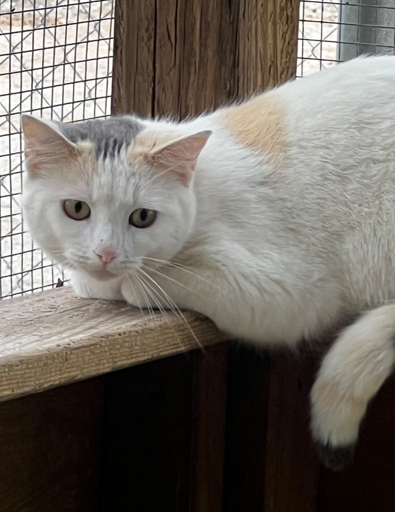
[[[393,300],[395,57],[359,58],[265,94],[285,105],[281,167],[242,145],[221,111],[180,125],[141,121],[158,133],[213,132],[191,186],[131,170],[126,153],[99,165],[89,183],[57,188],[56,173],[53,181],[27,178],[24,214],[34,239],[72,267],[87,296],[174,303],[256,344],[294,346]],[[64,215],[59,202],[68,198],[90,204],[89,221]],[[138,207],[158,210],[152,227],[128,225]],[[102,243],[119,253],[109,266],[116,278],[95,282],[93,250]],[[135,278],[142,263],[147,274]],[[326,407],[313,393],[321,442],[356,441],[366,404],[391,371],[395,308],[384,319],[378,311],[345,331],[324,361],[319,380],[362,405],[343,422],[336,404]]]

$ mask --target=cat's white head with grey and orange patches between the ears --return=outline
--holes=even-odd
[[[109,279],[169,261],[196,215],[194,169],[211,132],[131,116],[80,123],[23,115],[24,219],[55,261]]]

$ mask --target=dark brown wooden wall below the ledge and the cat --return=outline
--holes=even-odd
[[[0,512],[393,512],[395,379],[332,473],[316,365],[221,344],[0,403]]]

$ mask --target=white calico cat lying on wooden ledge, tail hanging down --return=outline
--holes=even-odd
[[[356,318],[311,391],[324,462],[349,462],[395,360],[395,57],[180,123],[22,127],[24,219],[78,295],[195,310],[265,346]]]

